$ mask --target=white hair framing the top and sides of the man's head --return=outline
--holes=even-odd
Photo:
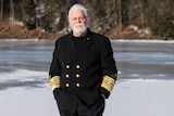
[[[71,15],[72,15],[72,12],[75,10],[82,10],[84,12],[87,27],[89,27],[89,17],[88,17],[87,9],[84,5],[76,3],[69,10],[69,29],[72,30],[72,27],[70,24],[71,23]]]

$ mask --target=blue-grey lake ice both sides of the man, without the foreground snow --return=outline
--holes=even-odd
[[[7,87],[0,89],[24,82],[27,86],[46,82],[46,77],[42,79],[40,76],[49,70],[53,44],[54,41],[1,40],[0,87]],[[119,79],[174,79],[174,43],[112,41],[112,47]],[[40,80],[35,80],[35,77],[40,77]],[[30,78],[29,82],[24,81],[25,78]],[[7,80],[13,80],[13,85],[8,86]]]

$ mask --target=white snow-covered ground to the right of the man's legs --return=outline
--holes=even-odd
[[[111,115],[173,116],[173,80],[135,79],[121,81],[110,98],[110,101],[114,103],[110,107],[115,107],[115,113]]]

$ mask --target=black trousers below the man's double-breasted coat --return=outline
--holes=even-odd
[[[61,116],[102,116],[104,99],[98,91],[75,94],[69,91],[54,90]]]

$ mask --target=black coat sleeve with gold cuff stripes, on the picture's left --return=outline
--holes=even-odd
[[[58,42],[58,41],[57,41]],[[59,62],[59,57],[58,57],[58,43],[55,42],[54,46],[54,51],[52,54],[52,62],[50,64],[50,70],[49,70],[49,80],[50,80],[50,86],[52,91],[55,88],[60,88],[60,73],[61,73],[61,68],[60,68],[60,62]]]

